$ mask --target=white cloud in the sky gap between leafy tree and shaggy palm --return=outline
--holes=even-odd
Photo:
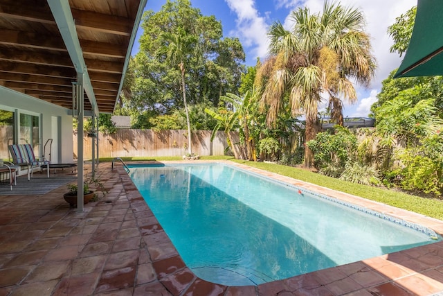
[[[230,35],[239,37],[242,44],[252,47],[252,54],[255,57],[264,58],[268,50],[268,24],[266,17],[262,17],[257,11],[253,0],[225,0],[230,10],[235,12],[237,28]],[[267,13],[264,12],[266,16]],[[254,58],[255,58],[254,57]]]

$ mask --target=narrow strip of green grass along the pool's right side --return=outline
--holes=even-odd
[[[415,213],[443,220],[443,201],[436,198],[422,198],[417,195],[392,191],[374,186],[354,184],[333,177],[327,177],[313,173],[302,168],[282,166],[280,164],[269,164],[264,162],[248,162],[239,159],[230,159],[239,164],[261,168],[265,171],[278,173],[287,177],[302,180],[319,186],[327,187],[337,191],[357,195],[368,200],[382,202],[394,207],[414,211]]]

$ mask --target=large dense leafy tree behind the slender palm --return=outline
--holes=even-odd
[[[244,71],[244,51],[237,38],[223,38],[220,21],[192,8],[189,0],[166,1],[159,12],[143,15],[140,51],[134,57],[134,85],[128,107],[171,114],[184,107],[181,71],[170,67],[164,34],[195,39],[201,55],[186,60],[186,100],[188,105],[217,105],[220,94],[237,92]]]

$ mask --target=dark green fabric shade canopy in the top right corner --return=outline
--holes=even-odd
[[[443,1],[418,0],[413,35],[394,78],[443,75]]]

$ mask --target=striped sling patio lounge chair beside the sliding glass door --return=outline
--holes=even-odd
[[[34,173],[34,168],[42,165],[46,166],[49,177],[49,161],[35,157],[33,147],[30,144],[8,145],[12,156],[12,163],[16,166],[26,166],[28,169],[28,180]]]

